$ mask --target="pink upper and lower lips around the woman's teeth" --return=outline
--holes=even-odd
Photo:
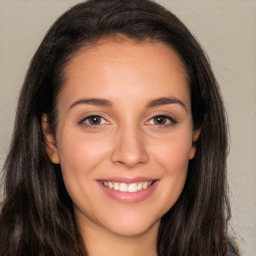
[[[149,186],[147,189],[139,190],[137,192],[121,192],[117,190],[110,189],[103,185],[102,180],[98,180],[98,184],[102,191],[110,198],[123,203],[139,203],[147,198],[153,193],[155,188],[158,186],[159,180],[157,179],[150,179],[145,177],[136,177],[136,178],[127,178],[127,177],[113,177],[104,179],[107,181],[113,182],[124,182],[124,183],[135,183],[135,182],[142,182],[142,181],[153,181],[153,184]]]

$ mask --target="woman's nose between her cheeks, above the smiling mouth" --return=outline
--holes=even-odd
[[[114,141],[112,162],[127,168],[133,168],[146,163],[148,159],[143,136],[139,129],[137,127],[120,129]]]

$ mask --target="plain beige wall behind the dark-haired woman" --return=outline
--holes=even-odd
[[[121,0],[120,0],[121,1]],[[29,61],[57,16],[78,0],[0,0],[0,167]],[[199,39],[220,83],[230,121],[232,234],[256,254],[256,1],[158,0]]]

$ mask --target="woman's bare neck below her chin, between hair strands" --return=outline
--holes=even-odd
[[[155,223],[142,234],[124,236],[96,224],[79,223],[88,256],[157,256],[158,228],[159,223]]]

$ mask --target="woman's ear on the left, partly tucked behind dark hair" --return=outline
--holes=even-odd
[[[43,114],[41,118],[41,125],[44,134],[46,152],[54,164],[60,163],[59,150],[54,132],[50,128],[47,114]]]

